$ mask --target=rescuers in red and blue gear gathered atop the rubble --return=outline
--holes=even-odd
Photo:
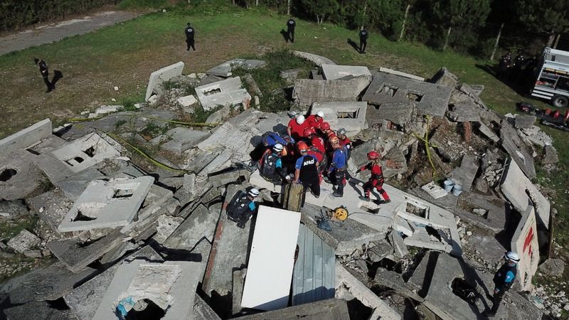
[[[346,169],[352,147],[350,139],[346,137],[346,129],[340,128],[334,132],[330,124],[324,122],[324,113],[321,111],[308,117],[292,112],[290,117],[287,134],[265,132],[262,135],[265,150],[257,162],[260,176],[275,185],[301,184],[302,203],[307,191],[319,198],[323,180],[334,185],[334,197],[344,196]],[[383,189],[385,179],[379,163],[380,154],[369,151],[367,156],[370,162],[356,171],[371,171],[371,177],[363,184],[365,196],[360,198],[370,201],[370,193],[375,188],[383,197],[383,201],[378,203],[389,203],[389,196]],[[228,216],[240,228],[244,228],[255,212],[253,200],[258,194],[256,188],[250,188],[247,192],[239,191],[228,204]]]

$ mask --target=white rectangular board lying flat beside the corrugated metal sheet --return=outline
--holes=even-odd
[[[300,213],[260,206],[241,306],[265,311],[286,308]]]

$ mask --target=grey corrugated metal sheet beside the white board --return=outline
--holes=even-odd
[[[334,298],[334,248],[302,223],[297,245],[298,257],[292,273],[292,305]]]

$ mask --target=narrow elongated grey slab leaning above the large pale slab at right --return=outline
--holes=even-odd
[[[521,141],[516,129],[506,121],[502,120],[500,129],[502,147],[510,154],[511,158],[521,168],[528,178],[536,177],[536,168],[533,166],[533,157]]]

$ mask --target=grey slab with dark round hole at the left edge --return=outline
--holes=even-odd
[[[31,153],[18,149],[0,152],[0,199],[25,199],[45,180]]]

